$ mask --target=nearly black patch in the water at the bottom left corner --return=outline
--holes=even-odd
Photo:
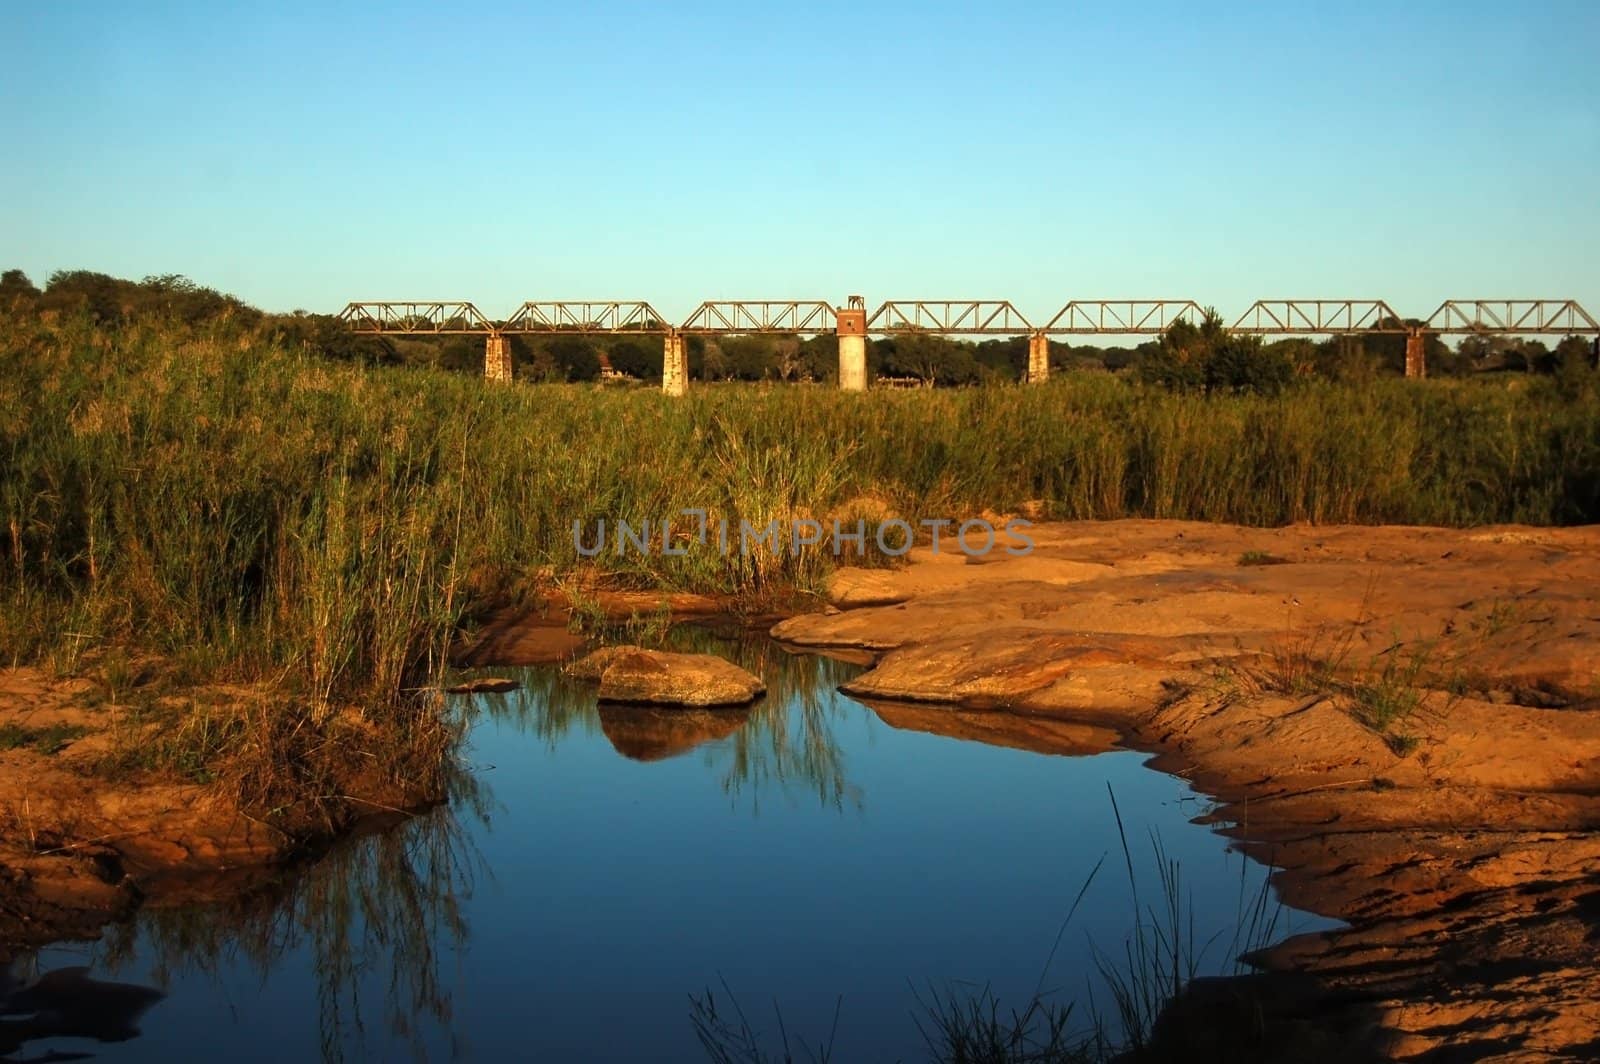
[[[38,1038],[126,1042],[139,1034],[139,1018],[165,994],[131,982],[101,982],[88,968],[58,968],[19,981],[0,968],[0,1053]],[[50,1053],[48,1061],[77,1061],[88,1053]],[[5,1058],[10,1059],[10,1058]]]

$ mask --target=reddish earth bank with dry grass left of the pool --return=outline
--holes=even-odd
[[[138,906],[227,901],[338,838],[448,797],[459,730],[314,722],[160,667],[0,669],[0,962]],[[293,733],[293,734],[290,734]]]

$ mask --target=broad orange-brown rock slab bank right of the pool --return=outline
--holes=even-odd
[[[1070,722],[1155,754],[1288,904],[1349,923],[1261,960],[1376,1016],[1389,1056],[1600,1046],[1600,528],[1034,534],[842,571],[830,611],[773,635],[874,651],[846,691],[890,722],[947,706],[970,734],[989,710],[989,741]]]

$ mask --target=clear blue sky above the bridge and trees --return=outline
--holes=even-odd
[[[325,10],[328,8],[328,10]],[[333,10],[336,8],[336,10]],[[1600,304],[1600,3],[8,3],[0,267]]]

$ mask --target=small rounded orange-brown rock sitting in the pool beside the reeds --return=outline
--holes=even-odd
[[[598,680],[602,702],[746,706],[766,693],[758,677],[715,654],[606,646],[573,662],[570,672]]]

